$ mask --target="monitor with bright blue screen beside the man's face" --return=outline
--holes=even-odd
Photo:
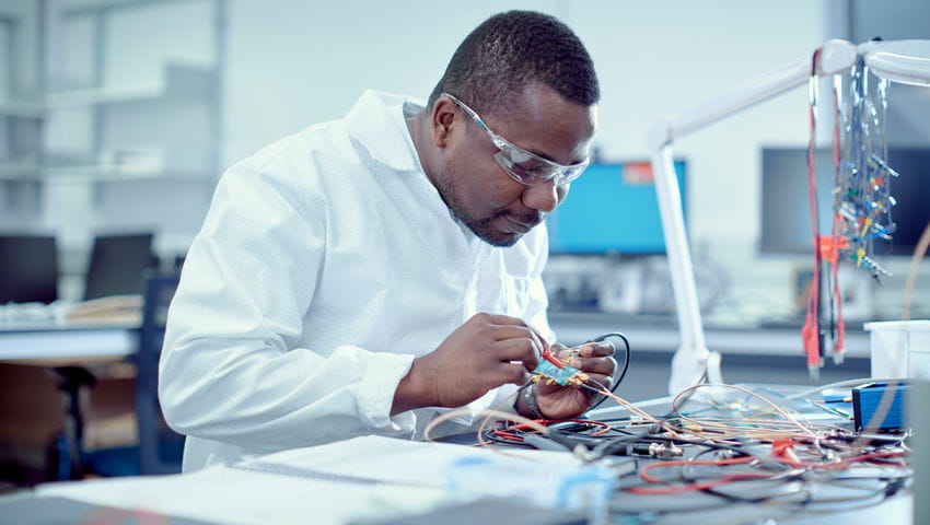
[[[685,202],[685,162],[675,162]],[[683,210],[684,211],[684,210]],[[551,254],[664,254],[655,180],[648,161],[592,164],[546,220]]]

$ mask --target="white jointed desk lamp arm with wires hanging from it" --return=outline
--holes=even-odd
[[[817,48],[818,77],[850,70],[861,56],[877,77],[930,86],[930,40],[870,42],[856,46],[832,39]],[[647,138],[669,256],[681,346],[672,360],[671,394],[700,383],[722,383],[720,354],[708,350],[695,285],[694,267],[682,214],[672,148],[676,139],[809,82],[812,59],[801,57],[762,78],[674,117],[655,122]]]

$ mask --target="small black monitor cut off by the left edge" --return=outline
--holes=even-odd
[[[0,235],[0,304],[58,299],[58,252],[50,235]]]

